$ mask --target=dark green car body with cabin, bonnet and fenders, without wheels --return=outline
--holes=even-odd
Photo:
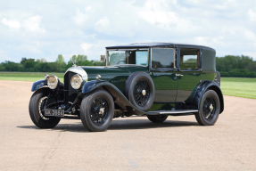
[[[68,69],[64,83],[60,83],[55,90],[48,90],[52,99],[48,99],[46,108],[60,109],[63,105],[65,114],[79,118],[78,111],[84,96],[95,89],[104,89],[113,97],[114,118],[131,115],[186,115],[198,112],[202,95],[213,90],[218,94],[219,113],[224,110],[214,49],[201,45],[150,43],[109,46],[106,51],[105,67],[74,65]],[[132,55],[137,55],[138,60],[128,59]],[[119,56],[120,61],[115,56]],[[152,78],[154,85],[154,95],[151,96],[154,97],[153,104],[149,110],[136,107],[126,94],[128,78],[134,76],[133,73],[142,72]],[[83,77],[82,86],[78,90],[70,85],[70,78],[76,74]],[[97,76],[100,78],[96,79]],[[47,80],[40,80],[32,86],[32,91],[45,87]]]

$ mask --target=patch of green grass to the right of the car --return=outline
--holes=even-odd
[[[224,95],[256,99],[255,77],[221,77],[220,87]]]

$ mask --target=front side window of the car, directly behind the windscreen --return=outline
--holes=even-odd
[[[152,68],[176,68],[175,50],[166,48],[152,49]]]

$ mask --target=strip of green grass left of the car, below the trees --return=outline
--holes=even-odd
[[[11,81],[32,81],[35,82],[40,79],[45,79],[45,74],[55,75],[63,82],[64,73],[53,72],[0,72],[0,80]]]

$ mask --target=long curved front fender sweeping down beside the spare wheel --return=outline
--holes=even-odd
[[[88,94],[95,90],[96,88],[103,88],[107,90],[113,97],[113,100],[116,104],[120,106],[123,110],[129,110],[130,112],[136,114],[136,115],[143,115],[146,113],[146,111],[137,109],[131,102],[128,101],[127,97],[120,92],[120,89],[118,89],[115,85],[112,85],[108,81],[103,80],[93,80],[88,81],[83,86],[83,94]]]

